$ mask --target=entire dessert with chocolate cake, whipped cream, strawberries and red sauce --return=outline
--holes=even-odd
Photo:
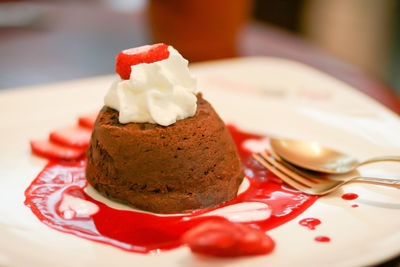
[[[168,60],[171,54],[175,62]],[[233,126],[228,126],[228,132],[210,104],[195,90],[195,82],[182,68],[174,50],[163,44],[130,49],[120,60],[117,68],[121,77],[135,73],[141,80],[133,85],[132,81],[117,81],[98,116],[81,116],[78,125],[56,129],[47,139],[31,141],[32,152],[50,160],[25,190],[25,205],[53,229],[129,252],[159,253],[187,245],[203,256],[270,253],[275,242],[266,231],[297,218],[318,197],[292,190],[255,161],[252,154],[264,149],[268,138]],[[130,62],[139,62],[141,67],[128,68]],[[171,64],[180,70],[179,75],[171,76],[165,69]],[[150,70],[158,74],[153,75]],[[148,75],[156,81],[153,85],[162,85],[163,89],[148,86],[150,90],[142,90]],[[178,89],[174,93],[171,87],[177,85],[188,86],[189,90],[173,88]],[[125,97],[119,99],[118,95]],[[135,102],[138,98],[146,101]],[[163,106],[169,107],[167,112],[160,112]],[[134,118],[143,121],[130,121],[134,117],[132,107],[142,111],[145,108]],[[241,188],[237,196],[243,172],[229,133],[247,174],[244,184],[248,187]],[[124,162],[133,167],[125,168]],[[113,172],[117,175],[110,175]],[[136,175],[136,187],[129,186],[131,173]],[[105,190],[104,194],[107,195],[108,186],[113,186],[112,194],[126,192],[117,196],[120,200],[129,202],[124,197],[133,196],[137,201],[134,205],[142,203],[142,208],[148,210],[211,208],[171,216],[120,209],[120,205],[87,188],[86,175],[100,191]],[[139,182],[146,184],[139,187]],[[142,191],[135,191],[138,189]],[[311,221],[306,219],[307,227],[319,220]],[[299,223],[303,225],[302,221]],[[316,241],[327,242],[329,238],[319,236]]]

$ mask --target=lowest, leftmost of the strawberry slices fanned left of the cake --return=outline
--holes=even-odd
[[[31,141],[31,148],[32,152],[38,156],[59,160],[79,159],[85,154],[83,148],[65,147],[49,140]]]

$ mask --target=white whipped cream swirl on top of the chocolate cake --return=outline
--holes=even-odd
[[[119,111],[119,122],[149,122],[168,126],[194,116],[197,81],[188,61],[173,47],[169,57],[131,66],[129,80],[115,81],[104,104]]]

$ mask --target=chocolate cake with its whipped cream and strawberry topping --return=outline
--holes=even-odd
[[[93,128],[88,182],[108,197],[157,213],[233,199],[244,177],[236,147],[197,93],[187,61],[157,44],[123,51],[116,65],[122,79],[106,95]]]

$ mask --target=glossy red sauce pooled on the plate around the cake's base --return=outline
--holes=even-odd
[[[233,126],[228,128],[250,180],[250,187],[224,205],[251,201],[268,204],[272,209],[270,218],[248,223],[267,231],[296,218],[317,200],[315,196],[282,184],[281,180],[256,162],[249,151],[242,149],[241,144],[245,140],[261,139],[261,136],[241,132]],[[85,160],[50,161],[26,189],[25,205],[41,222],[53,229],[141,253],[179,247],[182,245],[181,236],[188,229],[211,218],[197,216],[209,210],[162,217],[108,207],[85,193],[85,165]],[[99,207],[99,211],[91,216],[65,219],[58,211],[63,194],[91,201]]]

